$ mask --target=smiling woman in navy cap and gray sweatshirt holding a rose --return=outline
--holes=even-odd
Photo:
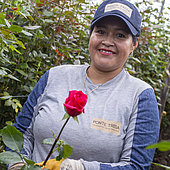
[[[157,142],[159,114],[150,85],[123,68],[138,45],[141,16],[125,0],[106,0],[91,23],[90,66],[57,66],[47,71],[29,95],[15,126],[25,137],[23,153],[44,161],[50,146],[42,140],[58,132],[70,90],[88,95],[79,125],[73,120],[61,138],[73,147],[69,159],[47,162],[48,169],[149,169]],[[22,163],[11,169],[17,169]]]

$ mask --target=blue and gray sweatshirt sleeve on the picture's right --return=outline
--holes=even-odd
[[[146,89],[139,95],[135,110],[130,117],[120,161],[101,163],[82,160],[86,170],[149,170],[155,149],[145,148],[158,141],[160,128],[159,111],[153,89]]]

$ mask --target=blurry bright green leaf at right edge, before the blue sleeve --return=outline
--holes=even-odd
[[[160,151],[169,151],[170,150],[170,141],[161,141],[146,147],[146,149],[158,148]]]

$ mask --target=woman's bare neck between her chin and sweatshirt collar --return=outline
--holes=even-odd
[[[122,70],[122,69],[121,69]],[[103,72],[100,70],[93,69],[91,66],[87,70],[87,75],[93,82],[93,84],[104,84],[107,81],[113,79],[117,76],[120,72]]]

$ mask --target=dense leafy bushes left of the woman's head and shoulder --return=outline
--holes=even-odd
[[[87,42],[94,10],[85,0],[0,3],[0,128],[9,117],[15,121],[45,71],[89,62]]]

